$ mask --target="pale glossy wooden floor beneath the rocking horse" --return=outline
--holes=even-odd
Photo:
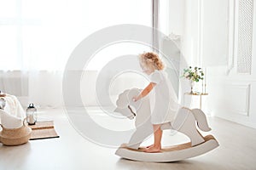
[[[92,112],[97,112],[95,109]],[[106,120],[98,111],[97,121]],[[115,149],[102,147],[84,139],[68,122],[62,109],[41,110],[40,116],[55,121],[55,129],[61,136],[59,139],[33,140],[28,144],[8,147],[0,144],[1,170],[79,170],[79,169],[256,169],[256,129],[224,121],[216,117],[208,117],[212,134],[218,139],[220,146],[206,155],[189,160],[153,163],[129,161],[114,155]],[[103,118],[102,118],[103,117]],[[102,119],[102,120],[101,120]],[[126,120],[123,120],[126,121]],[[130,126],[127,122],[124,126]],[[108,123],[112,124],[113,123]],[[119,125],[118,125],[119,126]],[[163,144],[187,138],[181,134],[164,133]],[[144,144],[149,144],[148,139]]]

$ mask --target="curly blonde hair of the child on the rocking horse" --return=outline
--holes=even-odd
[[[139,55],[139,60],[142,64],[153,65],[155,69],[161,71],[165,69],[163,61],[160,59],[159,55],[154,52],[146,52]]]

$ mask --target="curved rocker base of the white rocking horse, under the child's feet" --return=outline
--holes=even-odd
[[[204,137],[205,142],[195,146],[191,146],[191,143],[177,144],[163,148],[158,153],[146,153],[143,152],[143,148],[138,150],[127,147],[122,144],[115,154],[125,159],[134,161],[154,161],[154,162],[166,162],[166,161],[181,161],[187,158],[200,156],[218,147],[218,141],[212,136],[207,135]]]

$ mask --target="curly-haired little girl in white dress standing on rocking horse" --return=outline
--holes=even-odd
[[[154,144],[146,147],[144,151],[148,153],[160,152],[162,137],[160,127],[165,122],[172,122],[175,118],[178,110],[177,95],[172,88],[172,83],[168,79],[166,72],[163,71],[164,64],[158,54],[153,52],[140,54],[139,61],[143,71],[148,74],[150,83],[133,100],[142,99],[154,89],[154,93],[151,92],[149,96],[151,122],[154,128]]]

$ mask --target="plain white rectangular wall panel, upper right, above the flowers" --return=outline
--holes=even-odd
[[[199,1],[201,64],[227,65],[229,38],[229,0]]]

